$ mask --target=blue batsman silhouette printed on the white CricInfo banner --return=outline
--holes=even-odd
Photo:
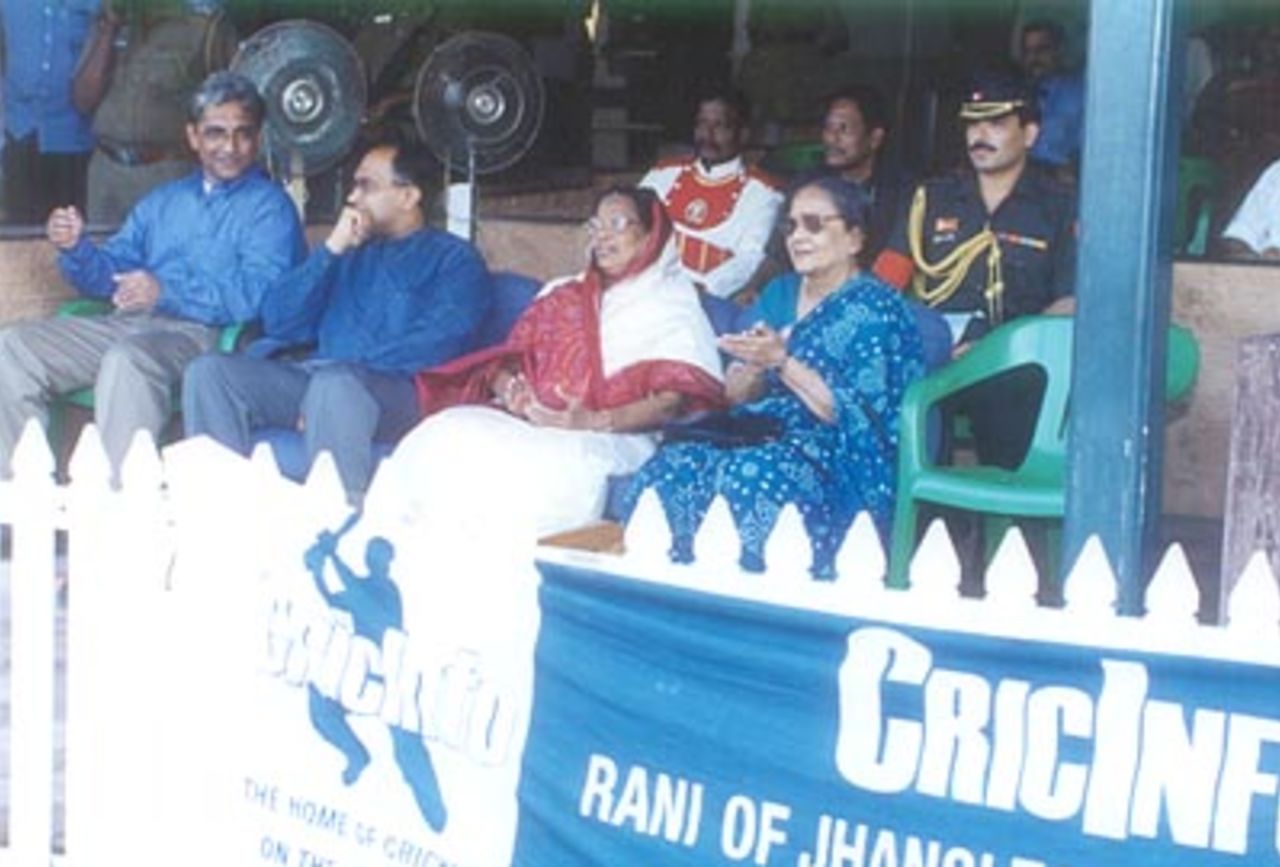
[[[303,555],[307,570],[315,578],[316,588],[329,606],[351,615],[352,633],[374,647],[384,648],[388,635],[402,635],[404,617],[399,589],[390,576],[396,547],[383,537],[374,537],[365,544],[365,569],[361,576],[338,556],[338,540],[358,520],[358,512],[337,531],[320,533],[315,544]],[[330,589],[325,579],[325,565],[333,566],[342,589]],[[369,749],[361,743],[347,720],[353,711],[337,698],[324,694],[315,683],[307,684],[307,702],[311,725],[328,743],[347,759],[342,772],[344,785],[353,785],[369,767]],[[384,715],[385,718],[385,715]],[[431,754],[421,734],[388,721],[388,733],[396,765],[404,784],[417,803],[422,818],[434,831],[444,830],[448,812],[440,797],[440,785],[431,765]]]

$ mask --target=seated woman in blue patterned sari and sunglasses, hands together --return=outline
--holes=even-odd
[[[628,490],[627,514],[645,488],[658,492],[672,560],[692,560],[717,494],[728,501],[750,571],[764,569],[764,544],[786,503],[804,517],[815,578],[833,575],[858,512],[870,512],[887,531],[899,409],[924,361],[906,302],[859,270],[867,211],[861,191],[838,178],[792,191],[783,228],[795,270],[764,288],[750,329],[721,338],[733,357],[726,375],[731,415],[774,419],[777,432],[736,447],[669,443]]]

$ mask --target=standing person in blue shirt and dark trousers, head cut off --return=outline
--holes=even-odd
[[[72,79],[101,0],[0,0],[5,69],[5,215],[42,223],[55,205],[84,206],[90,118]]]

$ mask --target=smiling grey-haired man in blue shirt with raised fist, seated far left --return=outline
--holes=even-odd
[[[264,111],[252,82],[215,73],[187,126],[200,172],[150,193],[101,246],[76,207],[50,215],[63,277],[115,311],[0,329],[0,471],[26,420],[44,420],[50,396],[84,385],[119,467],[136,430],[164,428],[187,362],[219,327],[256,319],[262,291],[302,257],[297,211],[255,161]]]

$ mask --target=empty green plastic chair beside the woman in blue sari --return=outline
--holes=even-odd
[[[1066,439],[1074,319],[1024,316],[1006,323],[965,355],[915,382],[902,400],[897,506],[890,546],[890,587],[908,585],[915,551],[919,503],[931,502],[1001,517],[1061,519],[1066,511]],[[938,465],[928,451],[929,411],[940,401],[997,373],[1034,364],[1044,370],[1030,448],[1014,470]],[[1169,330],[1165,397],[1187,394],[1196,383],[1199,348],[1189,330]],[[1006,521],[1007,523],[1007,521]]]

